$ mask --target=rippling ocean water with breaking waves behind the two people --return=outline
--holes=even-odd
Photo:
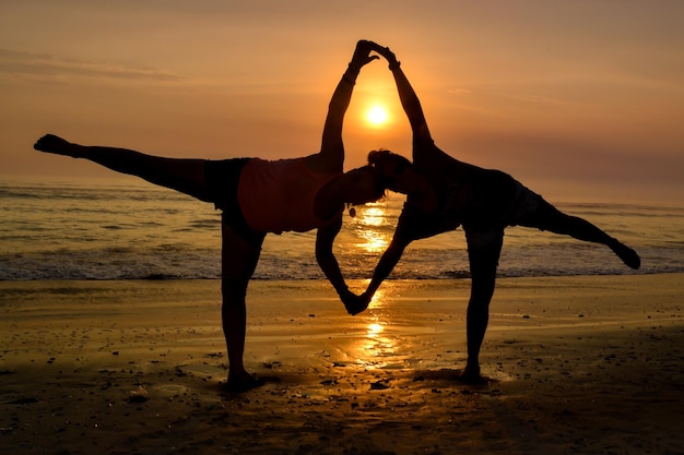
[[[344,216],[335,255],[346,278],[369,278],[389,243],[403,196]],[[632,271],[608,248],[515,227],[499,276],[684,272],[684,207],[563,203],[637,250]],[[221,214],[212,204],[143,181],[0,181],[0,280],[198,279],[221,277]],[[269,235],[255,279],[323,278],[315,231]],[[412,243],[391,278],[469,276],[463,231]]]

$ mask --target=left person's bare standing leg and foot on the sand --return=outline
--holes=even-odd
[[[224,217],[226,215],[224,214]],[[228,350],[228,384],[231,392],[246,391],[260,383],[250,375],[243,363],[247,308],[247,285],[257,267],[261,253],[262,236],[246,240],[238,236],[225,221],[222,223],[222,322]]]

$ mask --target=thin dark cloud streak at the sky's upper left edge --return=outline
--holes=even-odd
[[[156,68],[63,59],[48,53],[0,49],[0,74],[35,77],[83,77],[139,82],[181,82],[185,77]]]

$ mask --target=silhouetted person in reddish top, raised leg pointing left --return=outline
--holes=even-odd
[[[314,155],[267,161],[176,159],[139,152],[83,146],[48,134],[34,148],[85,158],[118,172],[138,176],[212,202],[222,212],[222,322],[228,351],[227,387],[243,391],[259,385],[243,364],[247,285],[267,232],[318,229],[316,259],[341,298],[349,291],[332,244],[342,226],[345,203],[363,204],[385,193],[381,176],[372,166],[343,173],[342,122],[361,69],[378,56],[361,40],[330,100],[321,149]]]

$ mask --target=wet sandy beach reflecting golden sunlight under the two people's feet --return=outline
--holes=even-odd
[[[684,454],[683,274],[500,279],[481,385],[469,286],[252,282],[228,394],[217,280],[0,283],[0,452]]]

